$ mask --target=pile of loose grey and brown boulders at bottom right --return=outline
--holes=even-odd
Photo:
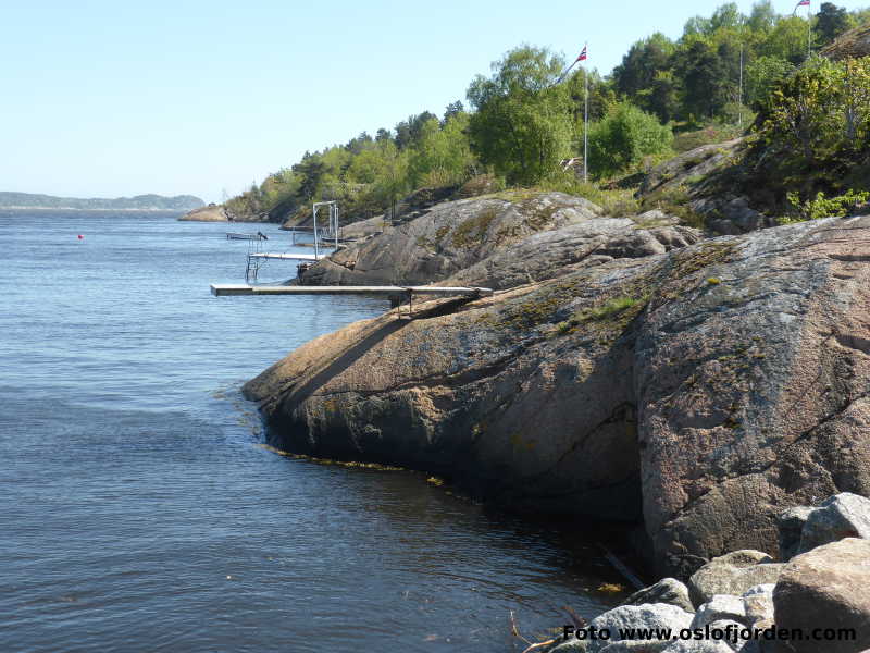
[[[846,493],[817,508],[787,510],[780,519],[779,557],[738,551],[710,560],[687,583],[667,578],[594,619],[585,639],[569,639],[550,653],[870,650],[870,500]],[[625,628],[671,629],[673,637],[688,629],[693,639],[622,640]],[[805,639],[785,639],[781,630],[800,630]],[[841,637],[849,630],[855,639]],[[602,631],[609,639],[601,639]],[[741,634],[750,632],[760,637]]]

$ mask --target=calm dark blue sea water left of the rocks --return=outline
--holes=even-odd
[[[240,384],[386,305],[212,297],[243,281],[226,231],[0,212],[0,651],[485,653],[523,648],[510,611],[605,609],[576,535],[265,449]]]

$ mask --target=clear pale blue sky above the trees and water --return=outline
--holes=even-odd
[[[0,0],[0,190],[220,201],[306,150],[440,114],[522,42],[588,40],[608,73],[719,4]]]

